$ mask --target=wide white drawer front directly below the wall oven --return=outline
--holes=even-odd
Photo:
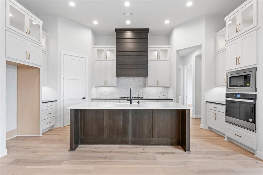
[[[244,145],[252,149],[255,149],[255,150],[257,149],[257,136],[255,135],[252,135],[240,129],[226,125],[226,136],[240,143],[243,143]]]

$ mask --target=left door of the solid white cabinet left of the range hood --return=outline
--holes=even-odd
[[[105,63],[104,62],[96,62],[95,63],[95,87],[97,86],[105,86]]]

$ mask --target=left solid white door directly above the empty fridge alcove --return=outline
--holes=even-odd
[[[6,31],[6,57],[27,61],[26,45],[24,38]]]

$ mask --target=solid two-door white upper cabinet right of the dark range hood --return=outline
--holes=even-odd
[[[170,87],[170,62],[148,63],[148,87]]]

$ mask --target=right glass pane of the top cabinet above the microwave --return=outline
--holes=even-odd
[[[253,4],[241,12],[241,27],[245,29],[253,25]]]

